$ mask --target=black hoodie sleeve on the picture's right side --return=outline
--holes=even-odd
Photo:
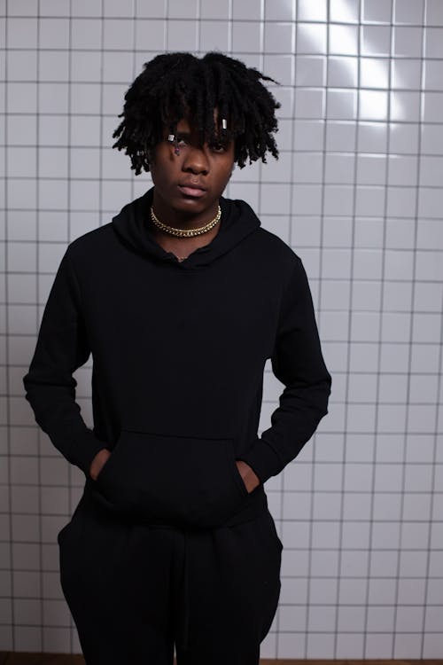
[[[284,293],[271,365],[284,391],[271,415],[272,426],[240,458],[262,483],[283,471],[328,413],[331,377],[323,361],[307,274],[299,257]]]

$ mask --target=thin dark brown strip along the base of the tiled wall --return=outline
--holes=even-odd
[[[175,663],[175,659],[174,659]],[[330,660],[309,660],[303,661],[291,658],[260,659],[260,665],[443,665],[443,659],[418,660],[394,660],[387,659],[368,660],[368,661],[334,661]],[[26,653],[26,652],[6,652],[0,651],[0,665],[84,665],[81,655],[72,655],[69,653]],[[175,663],[176,665],[176,663]]]

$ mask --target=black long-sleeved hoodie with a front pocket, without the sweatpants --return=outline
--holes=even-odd
[[[66,249],[23,378],[35,420],[86,475],[84,495],[152,523],[211,528],[266,508],[327,413],[330,374],[306,272],[244,201],[183,262],[149,229],[153,188]],[[92,354],[89,429],[73,372]],[[284,384],[258,426],[263,369]],[[89,465],[113,450],[93,481]],[[249,493],[236,459],[260,485]]]

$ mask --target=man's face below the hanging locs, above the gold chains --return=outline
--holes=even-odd
[[[177,125],[176,143],[164,140],[152,153],[154,203],[163,212],[205,216],[212,214],[229,182],[234,166],[234,141],[228,145],[203,142],[187,119]],[[179,154],[175,154],[175,147]]]

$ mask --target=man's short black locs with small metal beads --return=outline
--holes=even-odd
[[[164,138],[165,128],[175,134],[177,123],[188,117],[209,143],[234,139],[240,168],[266,153],[278,159],[272,134],[278,130],[280,103],[261,81],[274,81],[254,67],[217,51],[197,58],[191,53],[164,53],[144,63],[125,95],[123,118],[113,132],[113,145],[125,149],[136,176],[149,171],[150,151]],[[218,108],[219,127],[214,121]],[[221,119],[227,120],[227,127]]]

